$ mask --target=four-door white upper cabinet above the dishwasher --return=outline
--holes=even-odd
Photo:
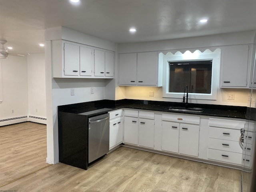
[[[52,70],[54,78],[114,78],[114,52],[53,40]]]

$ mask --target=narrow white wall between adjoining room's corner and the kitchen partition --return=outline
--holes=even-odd
[[[46,124],[44,53],[28,55],[28,120]]]

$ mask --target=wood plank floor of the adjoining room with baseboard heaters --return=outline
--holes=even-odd
[[[0,186],[46,163],[46,125],[24,122],[0,127]]]

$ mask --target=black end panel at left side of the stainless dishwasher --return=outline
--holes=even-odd
[[[88,118],[67,112],[58,113],[59,162],[88,168]]]

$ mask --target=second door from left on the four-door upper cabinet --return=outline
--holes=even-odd
[[[80,76],[92,76],[93,49],[80,46]]]

